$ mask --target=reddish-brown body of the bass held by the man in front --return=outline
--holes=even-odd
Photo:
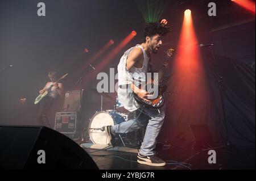
[[[145,86],[143,86],[143,87],[139,86],[139,89],[146,90],[146,91],[148,91],[148,93],[151,94],[153,92],[150,92],[150,90],[147,90],[147,87],[153,87],[152,86],[153,82],[154,82],[153,79],[149,79],[147,81],[147,84]],[[155,97],[156,97],[155,99],[147,98],[147,100],[149,100],[149,101],[143,100],[142,98],[140,98],[135,93],[134,93],[134,98],[137,101],[137,103],[139,103],[141,106],[144,106],[144,107],[147,107],[147,108],[151,108],[151,109],[159,109],[159,108],[161,108],[164,105],[164,96],[161,94],[160,89],[158,89],[157,93],[158,94],[155,95]]]

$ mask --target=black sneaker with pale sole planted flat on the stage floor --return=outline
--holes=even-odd
[[[162,159],[156,157],[155,155],[143,156],[138,153],[137,158],[138,158],[137,162],[144,164],[144,165],[150,165],[150,166],[156,166],[156,167],[166,165],[166,162],[164,162]]]

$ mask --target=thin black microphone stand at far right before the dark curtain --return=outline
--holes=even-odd
[[[225,147],[226,147],[226,146],[230,145],[230,142],[229,142],[228,128],[227,128],[227,125],[226,125],[226,112],[225,112],[224,98],[223,98],[223,77],[221,75],[220,68],[218,67],[216,58],[213,54],[212,46],[209,46],[209,49],[210,49],[210,53],[212,54],[212,57],[213,57],[213,60],[214,60],[214,64],[215,64],[214,66],[216,66],[216,70],[217,70],[218,87],[219,87],[220,96],[221,96],[221,108],[222,108],[222,112],[223,112],[223,115],[224,115],[224,127],[225,127],[225,131],[226,131],[226,137],[224,138],[225,139]]]

